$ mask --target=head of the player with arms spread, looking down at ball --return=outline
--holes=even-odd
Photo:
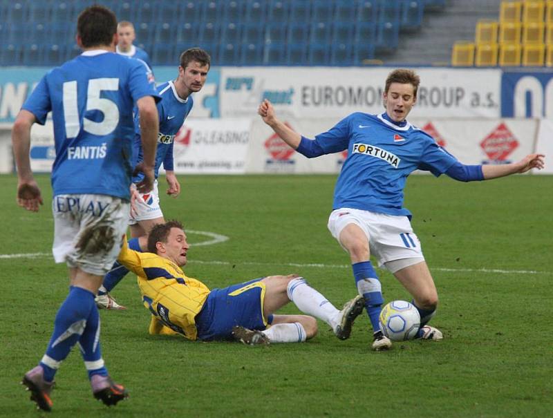
[[[413,70],[397,69],[388,74],[384,86],[384,107],[395,122],[405,120],[417,101],[420,77]]]

